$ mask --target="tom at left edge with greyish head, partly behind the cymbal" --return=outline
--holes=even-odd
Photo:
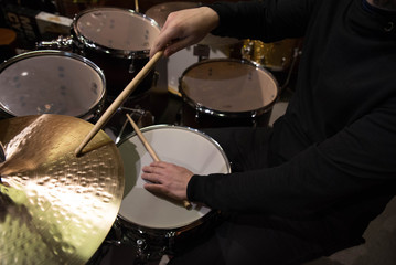
[[[34,51],[0,65],[2,117],[61,114],[92,120],[105,94],[103,72],[78,54]]]

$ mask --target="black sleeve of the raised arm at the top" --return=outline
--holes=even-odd
[[[272,42],[304,34],[317,0],[264,0],[208,4],[220,17],[215,35]]]

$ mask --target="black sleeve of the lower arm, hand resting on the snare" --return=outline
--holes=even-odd
[[[290,214],[394,192],[395,117],[396,97],[278,167],[194,176],[188,197],[220,210]]]

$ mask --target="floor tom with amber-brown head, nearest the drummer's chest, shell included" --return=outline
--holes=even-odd
[[[278,83],[253,62],[213,59],[186,68],[179,91],[184,102],[184,126],[267,126],[278,97]]]

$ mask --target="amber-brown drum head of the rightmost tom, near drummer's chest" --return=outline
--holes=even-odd
[[[208,109],[244,113],[272,104],[276,80],[264,68],[237,60],[206,60],[189,67],[181,77],[183,95]]]

